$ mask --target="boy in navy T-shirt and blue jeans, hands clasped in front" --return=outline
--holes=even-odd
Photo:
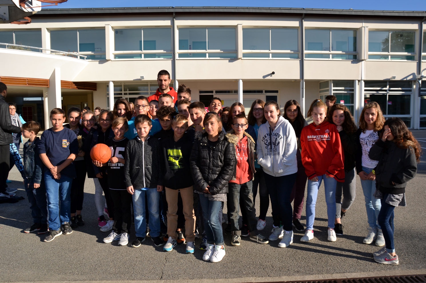
[[[49,234],[44,238],[45,242],[72,233],[69,226],[70,192],[75,168],[70,165],[78,154],[78,141],[72,130],[63,127],[64,121],[65,111],[60,108],[50,111],[52,127],[43,132],[38,144],[40,159],[46,166],[43,179],[49,212]]]

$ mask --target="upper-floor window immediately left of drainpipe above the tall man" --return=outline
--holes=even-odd
[[[171,59],[171,28],[129,28],[114,31],[115,59]]]

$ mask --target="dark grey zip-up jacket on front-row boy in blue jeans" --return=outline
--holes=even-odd
[[[139,137],[131,139],[126,146],[124,182],[134,190],[156,188],[161,185],[160,142],[149,136],[145,142]]]

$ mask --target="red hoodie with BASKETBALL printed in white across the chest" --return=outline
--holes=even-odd
[[[338,182],[345,181],[342,144],[336,125],[311,123],[300,135],[302,163],[308,179],[328,175]]]

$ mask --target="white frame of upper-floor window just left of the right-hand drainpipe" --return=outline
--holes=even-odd
[[[258,27],[242,27],[243,32],[244,29],[269,29],[269,50],[251,50],[251,49],[243,49],[242,50],[242,54],[243,57],[242,59],[278,59],[278,60],[294,60],[294,59],[300,59],[300,40],[299,40],[299,36],[300,36],[300,32],[299,32],[299,27],[273,27],[273,26],[268,26],[268,27],[262,27],[262,26],[258,26]],[[297,31],[297,50],[274,50],[271,49],[272,48],[272,29],[294,29]],[[242,35],[242,40],[243,40],[243,46],[244,46],[244,36]],[[269,54],[269,57],[244,57],[244,54]],[[296,54],[297,58],[281,58],[281,57],[272,57],[272,54]]]

